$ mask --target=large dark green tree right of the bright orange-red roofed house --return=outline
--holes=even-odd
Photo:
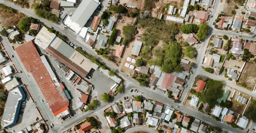
[[[208,103],[210,108],[214,107],[217,103],[217,99],[223,96],[223,85],[223,81],[210,79],[207,82],[206,90],[201,93],[199,100],[201,102]]]

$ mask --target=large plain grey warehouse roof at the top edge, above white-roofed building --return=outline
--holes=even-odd
[[[71,19],[80,26],[84,26],[99,5],[100,2],[95,0],[83,0],[71,16]]]

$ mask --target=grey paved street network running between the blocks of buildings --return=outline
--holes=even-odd
[[[215,8],[218,7],[218,3],[219,3],[220,0],[217,0],[216,1],[216,4],[215,4]],[[55,30],[58,30],[58,31],[61,31],[62,34],[64,34],[65,36],[67,36],[69,38],[69,40],[73,43],[75,43],[76,45],[78,46],[81,46],[82,48],[84,48],[89,54],[91,54],[92,56],[94,57],[97,57],[101,60],[101,62],[103,62],[106,66],[108,66],[109,68],[114,68],[114,69],[117,69],[117,67],[115,66],[115,64],[107,61],[106,59],[100,57],[99,55],[95,54],[94,51],[87,47],[87,46],[84,46],[83,44],[80,44],[78,41],[76,41],[75,38],[72,38],[71,36],[69,36],[68,34],[66,34],[65,32],[63,32],[60,27],[61,27],[61,24],[58,23],[58,24],[52,24],[51,22],[45,20],[45,19],[42,19],[42,18],[39,18],[37,17],[33,12],[31,12],[30,10],[27,10],[27,9],[23,9],[19,6],[16,6],[10,2],[6,2],[4,0],[0,0],[0,3],[3,3],[7,6],[10,6],[10,7],[13,7],[21,12],[23,12],[24,14],[28,15],[28,16],[32,16],[34,18],[37,18],[37,19],[40,19],[41,22],[43,22],[44,24],[46,24],[47,26],[52,26],[54,27]],[[218,13],[215,13],[213,11],[213,16],[215,17]],[[198,57],[197,57],[197,61],[196,61],[196,66],[195,68],[193,69],[194,71],[194,74],[191,75],[190,77],[190,80],[188,81],[188,87],[184,89],[184,93],[183,93],[183,96],[181,97],[181,101],[183,101],[185,99],[185,95],[186,93],[188,92],[190,86],[192,85],[193,83],[193,79],[195,78],[195,76],[197,76],[198,74],[202,74],[202,75],[206,75],[206,76],[209,76],[213,79],[217,79],[217,80],[220,80],[221,78],[217,75],[214,75],[214,74],[210,74],[210,73],[207,73],[205,72],[202,68],[201,68],[201,61],[202,61],[202,58],[203,58],[203,55],[204,55],[204,51],[206,50],[206,47],[207,47],[207,44],[208,44],[208,41],[209,41],[209,38],[211,35],[214,35],[214,34],[218,34],[218,35],[227,35],[227,36],[238,36],[240,34],[237,34],[235,32],[230,32],[230,31],[221,31],[221,30],[217,30],[214,28],[214,26],[212,25],[213,21],[214,21],[214,17],[210,20],[209,22],[209,26],[210,26],[210,32],[207,36],[207,38],[201,43],[201,48],[200,48],[200,51],[198,53]],[[1,28],[0,28],[1,30]],[[245,35],[245,34],[242,34],[243,36],[243,39],[254,39],[254,38],[251,38],[252,35]],[[255,40],[255,39],[254,39]],[[17,57],[16,53],[12,50],[12,48],[10,47],[9,43],[8,43],[8,40],[6,40],[5,38],[3,38],[3,44],[4,46],[6,47],[7,51],[11,54],[11,55],[15,55],[15,57]],[[17,68],[19,70],[22,70],[25,72],[23,66],[21,65],[20,61],[17,59],[17,58],[14,58],[14,62],[17,66]],[[38,96],[37,92],[34,91],[34,88],[31,87],[33,86],[35,83],[32,82],[30,79],[28,79],[28,77],[26,76],[25,73],[21,73],[21,78],[22,80],[24,81],[24,83],[28,84],[29,85],[29,89],[31,90],[32,92],[32,95],[36,98],[36,101],[40,102],[40,97]],[[232,133],[235,133],[235,132],[243,132],[241,131],[240,129],[238,128],[232,128],[230,125],[226,125],[226,124],[223,124],[223,123],[220,123],[219,121],[215,121],[213,119],[211,119],[207,114],[204,114],[204,113],[201,113],[197,110],[192,110],[192,109],[188,109],[186,107],[184,107],[182,105],[182,102],[177,104],[177,103],[174,103],[173,100],[170,100],[170,99],[167,99],[167,97],[163,97],[161,95],[158,95],[158,94],[155,94],[154,93],[154,90],[149,90],[148,88],[145,88],[145,87],[141,87],[139,86],[139,84],[134,80],[134,79],[131,79],[130,77],[128,77],[127,75],[125,75],[124,73],[122,72],[118,72],[118,75],[120,77],[122,77],[124,80],[125,80],[125,84],[126,84],[126,89],[131,89],[131,88],[137,88],[139,89],[139,91],[143,92],[143,96],[147,97],[147,98],[151,98],[151,99],[155,99],[157,101],[160,101],[160,102],[163,102],[163,103],[167,103],[167,105],[172,105],[174,107],[176,106],[180,106],[180,108],[178,108],[178,110],[184,112],[184,113],[187,113],[193,117],[196,117],[198,119],[201,119],[211,125],[214,125],[214,126],[218,126],[220,128],[222,128],[223,130],[228,130],[229,132],[232,132]],[[227,81],[225,80],[226,82],[226,85],[234,88],[234,89],[238,89],[244,93],[247,93],[247,94],[253,94],[253,96],[255,97],[256,95],[250,91],[247,91],[241,87],[238,87],[236,86],[235,84],[233,84],[232,82],[230,81]],[[122,99],[123,98],[123,94],[118,94],[117,96],[115,96],[114,98],[114,101],[117,101],[119,99]],[[86,116],[89,116],[91,114],[101,114],[101,112],[98,112],[98,111],[102,111],[102,109],[109,105],[109,103],[101,103],[100,107],[98,107],[96,109],[96,111],[88,111],[86,113],[83,113],[81,115],[79,115],[79,117],[75,117],[74,119],[72,119],[71,121],[67,122],[67,123],[63,123],[63,125],[61,126],[55,126],[54,128],[57,130],[57,131],[52,131],[52,132],[58,132],[60,133],[62,130],[66,130],[68,128],[70,128],[71,126],[74,125],[74,123],[76,123],[77,121],[83,119],[84,117]],[[48,124],[51,123],[52,121],[52,117],[50,115],[52,115],[51,112],[47,112],[47,109],[44,109],[45,107],[43,106],[43,104],[40,102],[38,103],[38,106],[41,108],[43,114],[44,114],[44,117],[48,120]],[[50,115],[49,115],[50,114]],[[103,120],[103,119],[100,119],[101,122],[102,122],[102,125],[105,126],[106,125],[106,122]],[[129,131],[129,130],[128,130]]]

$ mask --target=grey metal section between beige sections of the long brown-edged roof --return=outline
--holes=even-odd
[[[56,45],[56,46],[55,46]],[[70,47],[67,43],[62,41],[60,38],[55,37],[52,42],[50,43],[50,46],[56,48],[58,52],[60,52],[62,55],[67,57],[68,59],[71,57],[71,55],[75,52],[75,49]]]

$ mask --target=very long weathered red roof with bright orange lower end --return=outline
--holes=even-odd
[[[27,72],[36,80],[55,116],[68,110],[69,101],[61,88],[56,88],[32,41],[15,48]]]

